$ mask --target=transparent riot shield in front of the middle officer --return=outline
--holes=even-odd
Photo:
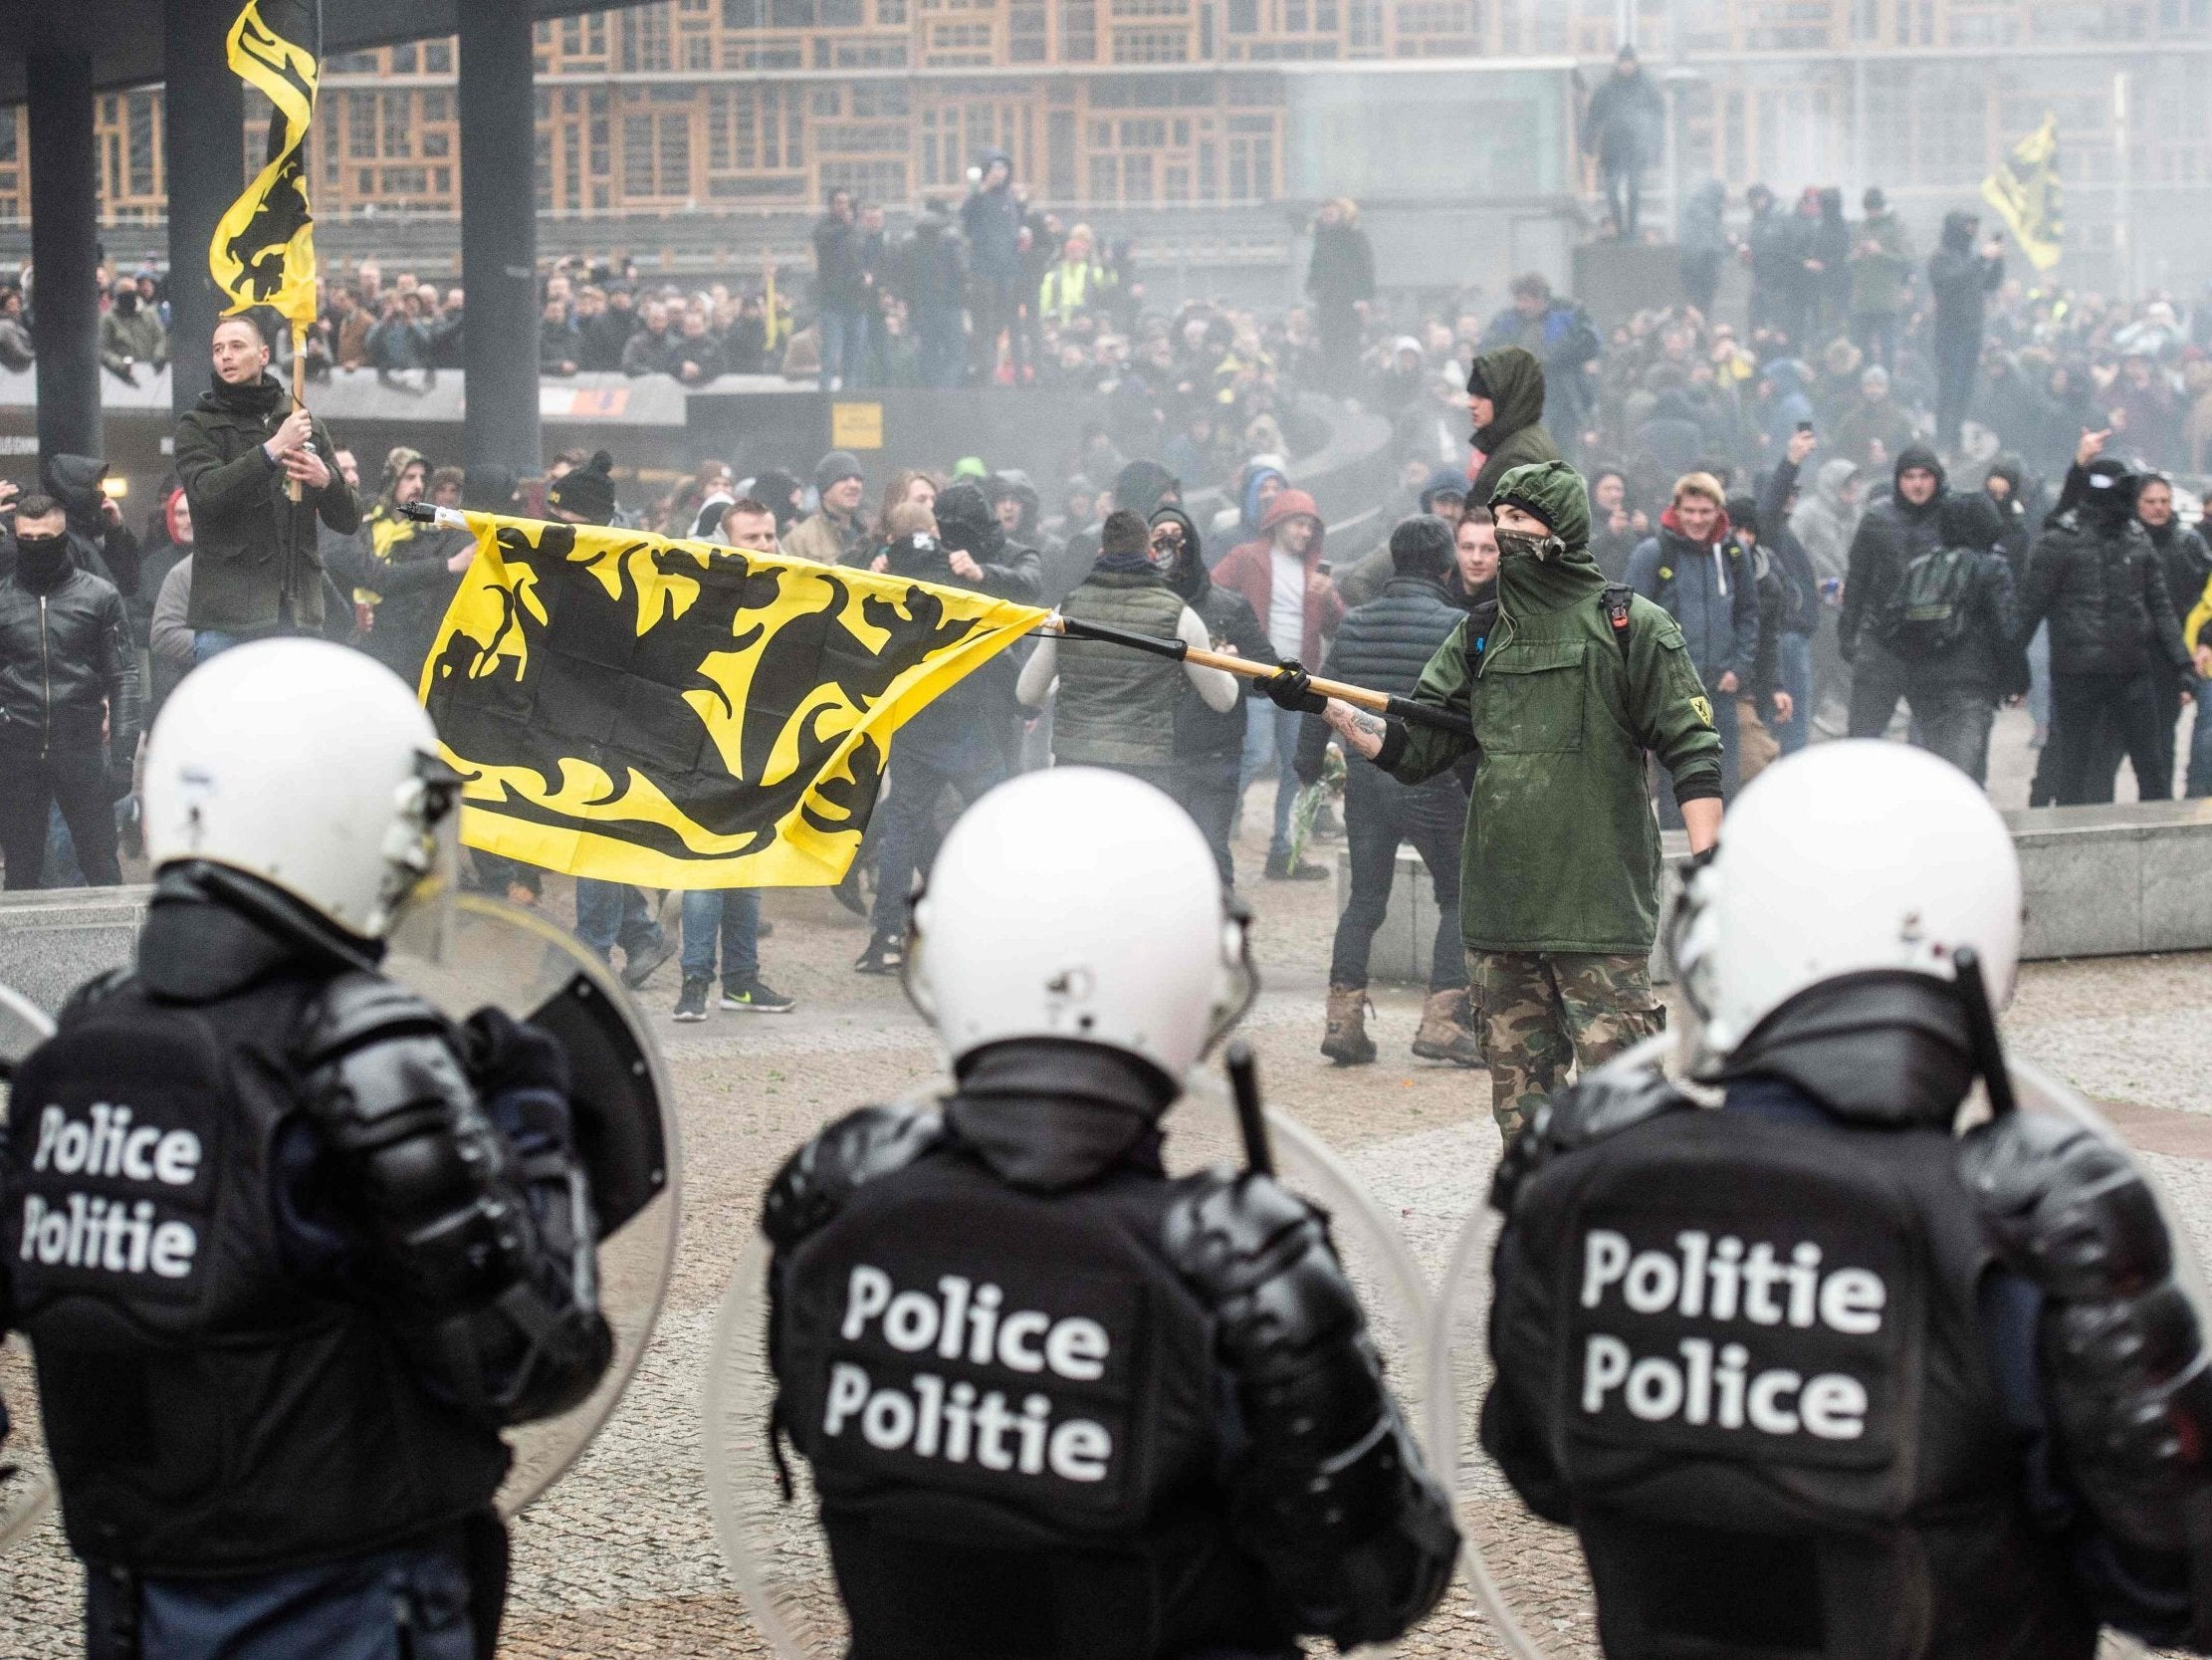
[[[927,1104],[951,1085],[940,1082],[909,1100]],[[1354,1169],[1290,1113],[1270,1109],[1267,1129],[1279,1177],[1329,1213],[1369,1330],[1389,1368],[1391,1388],[1416,1436],[1431,1421],[1451,1423],[1422,1401],[1431,1377],[1425,1343],[1431,1321],[1429,1282],[1416,1266],[1391,1215],[1360,1184]],[[1170,1175],[1208,1164],[1243,1166],[1237,1111],[1228,1089],[1194,1071],[1188,1093],[1166,1120]],[[843,1660],[849,1629],[830,1571],[830,1552],[816,1523],[814,1483],[805,1459],[787,1441],[770,1439],[776,1383],[768,1368],[768,1239],[759,1233],[739,1257],[721,1299],[714,1348],[699,1394],[701,1454],[708,1503],[723,1560],[745,1596],[754,1622],[779,1660]],[[1449,1481],[1449,1461],[1429,1448],[1431,1467]],[[781,1481],[790,1476],[792,1498]],[[1389,1656],[1387,1649],[1360,1649]]]

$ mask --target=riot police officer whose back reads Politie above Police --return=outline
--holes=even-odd
[[[2203,1332],[2128,1153],[2006,1111],[2020,899],[1949,764],[1785,759],[1672,934],[1719,1111],[1610,1069],[1502,1162],[1482,1443],[1615,1660],[2205,1645]]]

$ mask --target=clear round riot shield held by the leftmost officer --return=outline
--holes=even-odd
[[[515,1465],[498,1505],[513,1516],[591,1445],[653,1337],[677,1246],[675,1093],[653,1029],[622,983],[575,936],[520,905],[460,894],[438,927],[394,930],[385,972],[456,1020],[487,1005],[531,1020],[568,1056],[577,1151],[599,1220],[599,1308],[615,1330],[615,1359],[580,1405],[507,1432]]]

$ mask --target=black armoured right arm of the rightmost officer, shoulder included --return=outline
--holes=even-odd
[[[2185,1552],[2212,1503],[2212,1352],[2172,1239],[2126,1149],[2035,1113],[1975,1129],[1960,1173],[1991,1242],[2044,1293],[2037,1363],[2064,1467],[2130,1545]]]

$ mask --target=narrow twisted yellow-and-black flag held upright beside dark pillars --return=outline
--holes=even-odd
[[[274,111],[268,162],[215,226],[208,272],[230,297],[232,312],[268,305],[292,323],[294,341],[305,341],[314,323],[314,215],[301,146],[323,69],[312,0],[246,0],[230,24],[228,49],[230,71]]]

